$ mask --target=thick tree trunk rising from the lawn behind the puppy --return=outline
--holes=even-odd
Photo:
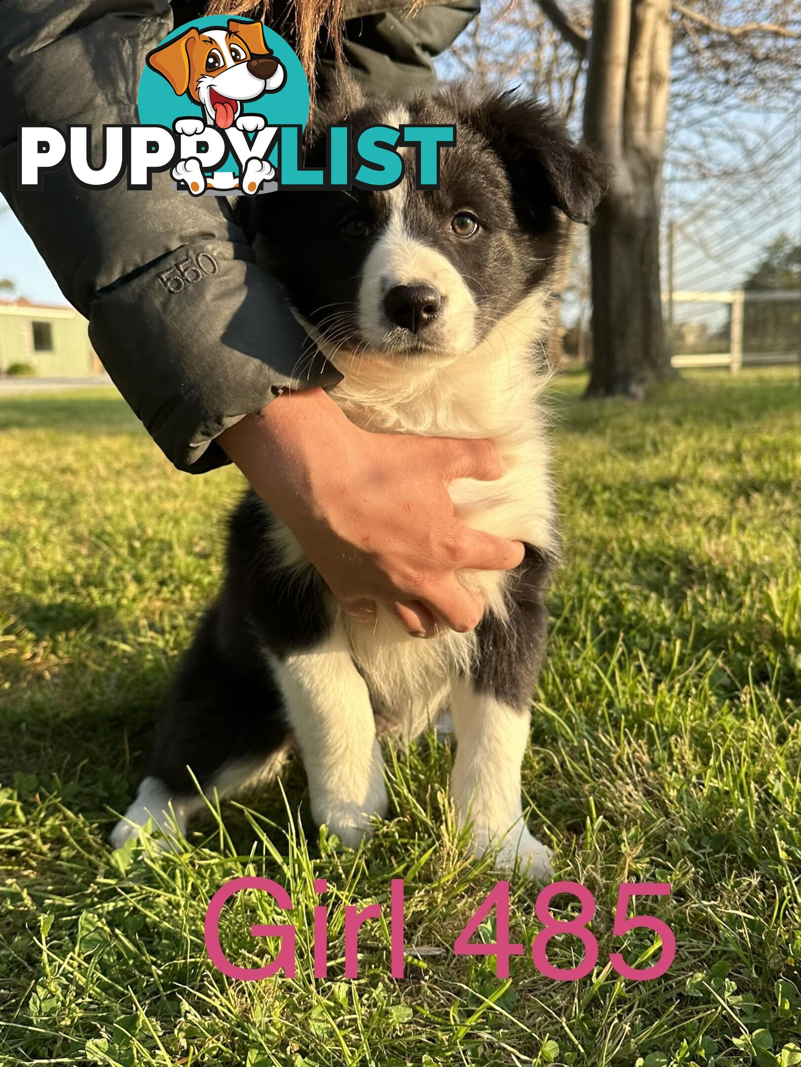
[[[614,177],[591,233],[592,396],[641,398],[672,373],[659,275],[670,51],[670,0],[595,0],[584,134]]]

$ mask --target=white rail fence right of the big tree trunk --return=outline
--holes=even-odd
[[[674,367],[728,367],[733,375],[736,375],[744,366],[773,366],[786,363],[801,364],[801,292],[798,290],[772,290],[753,291],[750,289],[733,289],[731,291],[695,291],[678,290],[665,294],[668,337],[672,345],[674,355],[671,362]],[[721,337],[719,331],[717,341],[708,347],[710,351],[703,351],[703,340],[707,339],[706,329],[700,338],[702,351],[681,352],[682,344],[686,347],[698,347],[682,340],[682,329],[687,331],[687,322],[676,321],[677,304],[725,304],[729,305],[727,340]],[[769,324],[758,323],[761,329],[756,331],[760,334],[758,343],[755,343],[753,323],[760,317],[755,314],[757,306],[766,307],[770,304],[778,305],[784,314],[784,321],[780,323],[781,329],[771,332]],[[795,307],[792,305],[796,305]],[[747,310],[751,312],[747,316]],[[747,318],[749,330],[747,331]],[[747,336],[748,332],[748,336]],[[773,344],[771,344],[771,340]],[[721,351],[711,351],[712,347],[721,348]],[[726,349],[725,351],[723,349]]]

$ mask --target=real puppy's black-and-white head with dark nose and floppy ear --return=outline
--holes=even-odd
[[[449,91],[402,107],[348,111],[348,121],[456,124],[441,150],[440,187],[414,189],[414,154],[389,191],[279,191],[241,206],[246,228],[293,305],[337,352],[382,362],[449,361],[471,351],[532,290],[547,286],[560,249],[557,209],[588,221],[604,169],[570,142],[547,109]],[[314,131],[309,165],[326,145]]]

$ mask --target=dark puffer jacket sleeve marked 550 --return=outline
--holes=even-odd
[[[88,190],[66,168],[42,191],[17,179],[20,125],[91,124],[96,138],[104,124],[137,123],[145,54],[171,29],[168,0],[2,0],[0,192],[156,443],[200,473],[226,462],[214,439],[281,387],[341,376],[255,264],[224,197],[177,194],[167,173],[146,191],[124,179]]]

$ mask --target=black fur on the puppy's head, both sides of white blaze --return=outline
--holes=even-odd
[[[404,108],[412,124],[456,123],[456,144],[441,155],[440,188],[407,198],[404,225],[459,271],[478,308],[481,339],[527,292],[547,286],[564,237],[556,209],[587,221],[607,170],[596,155],[570,140],[549,108],[511,93],[476,98],[455,87],[418,97]],[[359,130],[383,122],[390,109],[391,101],[360,102],[358,95],[341,89],[310,127],[305,164],[325,163],[321,132],[327,124],[347,121],[355,145]],[[482,223],[469,240],[455,237],[451,228],[454,214],[465,210]],[[358,187],[279,189],[269,196],[240,197],[237,213],[261,261],[293,305],[332,343],[358,344],[361,271],[386,227],[390,194]],[[348,236],[344,223],[352,218],[365,224],[368,236]]]

